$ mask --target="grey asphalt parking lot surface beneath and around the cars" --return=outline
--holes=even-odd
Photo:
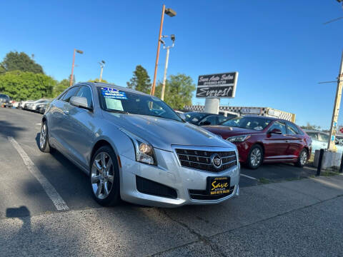
[[[102,208],[83,172],[39,151],[40,121],[0,109],[0,256],[343,255],[343,176],[297,180],[315,170],[269,164],[242,168],[241,196],[217,206]]]

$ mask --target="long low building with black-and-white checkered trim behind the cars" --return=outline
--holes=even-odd
[[[201,105],[184,106],[184,111],[204,112],[204,109],[205,106]],[[227,116],[227,114],[238,114],[239,116],[266,116],[295,122],[295,114],[270,107],[219,106],[219,114],[223,114],[224,116]]]

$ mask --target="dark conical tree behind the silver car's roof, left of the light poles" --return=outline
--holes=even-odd
[[[129,89],[134,89],[149,94],[151,82],[146,69],[144,69],[141,65],[137,65],[136,69],[134,70],[134,76],[132,76],[130,82],[126,82],[126,85]]]

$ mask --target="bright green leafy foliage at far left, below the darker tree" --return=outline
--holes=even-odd
[[[33,72],[9,71],[0,75],[0,92],[15,100],[51,97],[56,81]]]

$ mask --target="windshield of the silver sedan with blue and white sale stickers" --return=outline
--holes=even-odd
[[[98,87],[98,92],[105,111],[182,121],[172,108],[156,97],[121,91],[110,87]]]

